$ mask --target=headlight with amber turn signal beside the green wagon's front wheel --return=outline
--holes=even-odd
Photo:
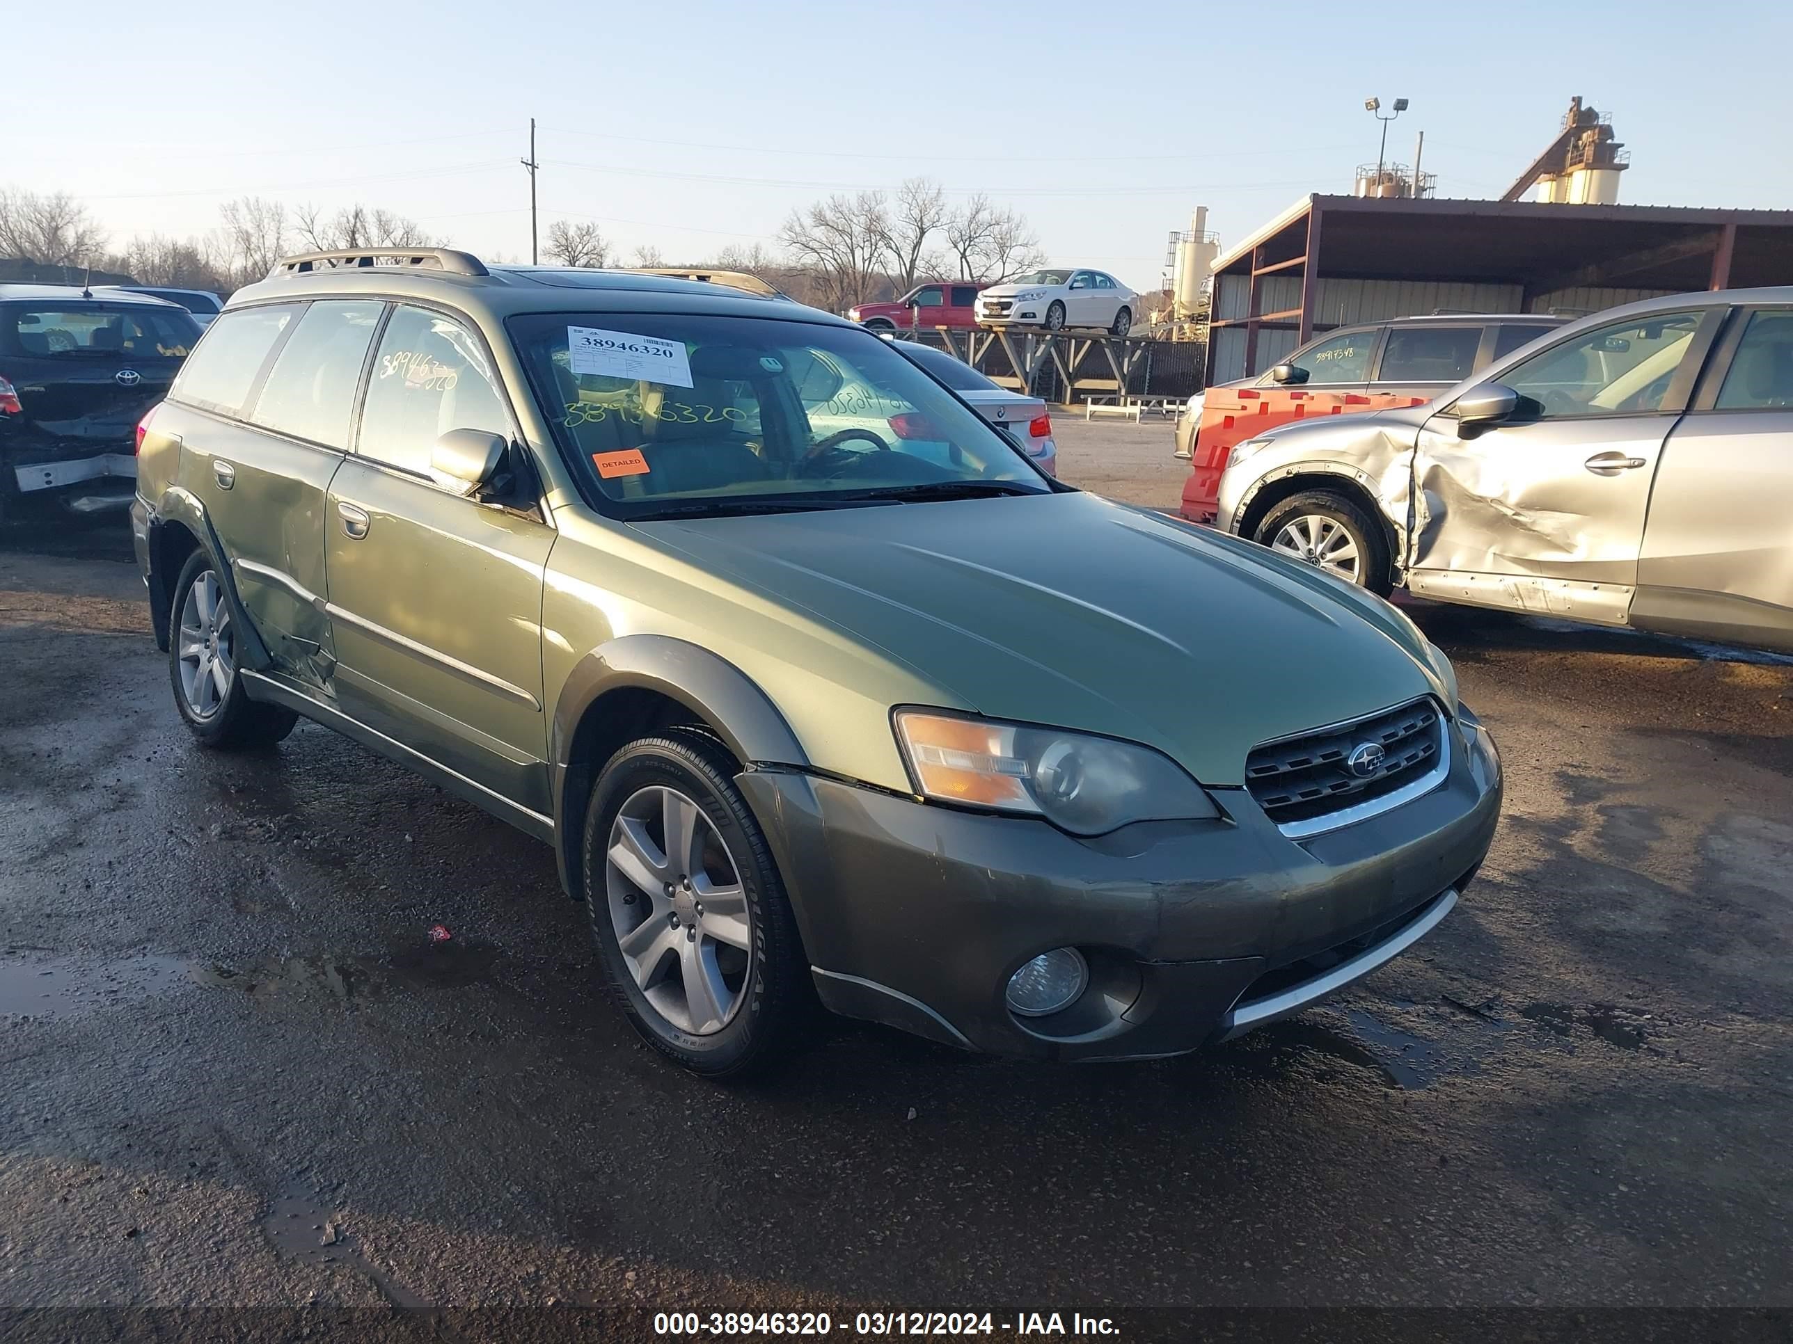
[[[1135,742],[927,710],[896,711],[896,742],[923,797],[1044,817],[1072,835],[1219,815],[1180,765]]]

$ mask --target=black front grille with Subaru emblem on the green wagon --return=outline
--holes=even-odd
[[[1366,751],[1368,749],[1368,751]],[[1382,758],[1368,765],[1375,751]],[[1356,808],[1420,781],[1443,763],[1443,715],[1429,701],[1413,701],[1350,724],[1253,747],[1244,762],[1244,787],[1278,826],[1312,823]]]

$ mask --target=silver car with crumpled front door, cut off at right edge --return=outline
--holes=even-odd
[[[1793,287],[1585,317],[1232,450],[1217,525],[1379,593],[1793,649]]]

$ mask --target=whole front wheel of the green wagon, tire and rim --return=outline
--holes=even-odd
[[[739,771],[715,738],[671,728],[610,758],[585,819],[610,996],[654,1050],[712,1079],[775,1063],[809,1011],[796,918]]]

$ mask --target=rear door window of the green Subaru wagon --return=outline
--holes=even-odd
[[[280,348],[255,401],[256,425],[348,450],[360,367],[384,303],[314,303]]]

